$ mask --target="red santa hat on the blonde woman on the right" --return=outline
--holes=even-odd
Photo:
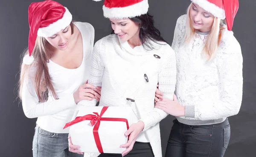
[[[213,16],[227,21],[227,29],[232,30],[234,18],[239,8],[238,0],[191,0]]]

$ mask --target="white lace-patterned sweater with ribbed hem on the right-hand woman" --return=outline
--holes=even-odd
[[[185,117],[177,120],[188,125],[221,123],[241,107],[243,59],[239,42],[232,31],[221,30],[216,55],[206,62],[202,50],[209,32],[196,32],[189,44],[183,44],[185,29],[186,15],[182,15],[172,43],[177,61],[175,94],[185,106]]]

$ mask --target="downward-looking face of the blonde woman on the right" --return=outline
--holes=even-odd
[[[205,11],[195,3],[192,3],[189,12],[193,28],[201,32],[207,32],[212,29],[214,20],[214,16],[212,14]]]

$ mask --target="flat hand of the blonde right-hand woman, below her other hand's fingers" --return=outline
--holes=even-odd
[[[185,107],[180,105],[176,95],[173,95],[173,101],[169,99],[158,101],[155,104],[155,108],[162,109],[164,112],[173,116],[185,116]]]

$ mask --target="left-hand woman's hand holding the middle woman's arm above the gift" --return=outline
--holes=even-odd
[[[97,90],[96,87],[94,87],[91,84],[87,84],[88,80],[85,82],[85,84],[81,85],[76,92],[73,94],[74,96],[74,100],[76,102],[76,104],[81,101],[81,100],[93,100],[93,98],[95,98],[97,101],[99,101],[100,98],[100,93],[99,89]],[[99,87],[97,87],[99,88]],[[96,91],[95,91],[96,90]],[[101,88],[100,88],[101,90]],[[97,93],[97,96],[95,96]]]

